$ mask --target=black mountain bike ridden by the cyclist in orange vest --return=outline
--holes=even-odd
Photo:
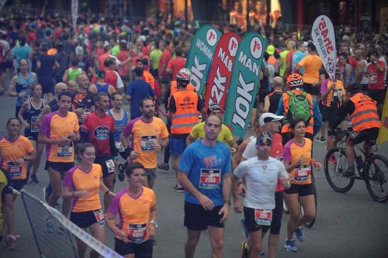
[[[324,158],[324,174],[327,182],[339,193],[348,192],[355,182],[355,180],[364,180],[368,193],[372,199],[376,202],[385,203],[388,201],[388,192],[384,189],[388,178],[388,160],[380,154],[367,154],[363,148],[355,145],[358,150],[361,151],[364,159],[361,155],[356,155],[355,150],[355,168],[357,169],[358,175],[353,178],[343,177],[342,172],[348,168],[348,162],[346,160],[345,143],[348,139],[352,128],[346,130],[337,129],[334,135],[339,138],[340,134],[345,136],[345,140],[339,145],[330,149]],[[368,146],[373,152],[377,151],[378,147],[374,150],[372,146]],[[334,155],[336,163],[329,163],[330,156]],[[332,165],[332,167],[330,166]],[[330,167],[329,167],[330,166]],[[388,187],[385,187],[388,189]]]

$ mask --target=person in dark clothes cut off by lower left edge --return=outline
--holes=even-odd
[[[12,179],[9,173],[0,168],[0,242],[3,238],[4,221],[7,224],[4,251],[8,251],[15,246],[14,236],[14,199],[13,199]],[[7,219],[5,220],[5,217]]]

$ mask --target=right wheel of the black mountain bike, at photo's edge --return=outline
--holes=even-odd
[[[368,193],[373,200],[381,203],[388,201],[388,160],[382,155],[373,155],[368,160],[364,175]]]

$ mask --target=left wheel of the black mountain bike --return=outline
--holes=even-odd
[[[332,155],[336,158],[336,164],[329,163],[329,158]],[[342,177],[342,172],[348,168],[344,150],[341,154],[339,154],[339,147],[329,150],[324,157],[323,167],[326,180],[334,191],[346,193],[352,188],[355,178]]]

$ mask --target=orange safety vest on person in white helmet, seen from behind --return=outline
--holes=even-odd
[[[171,133],[190,133],[198,124],[198,94],[192,91],[177,91],[173,94],[177,111],[172,114]]]

